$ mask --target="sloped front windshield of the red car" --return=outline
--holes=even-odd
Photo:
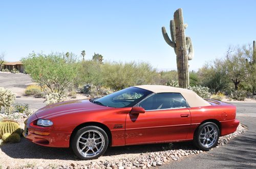
[[[103,96],[99,99],[90,100],[92,103],[108,106],[108,107],[132,107],[144,99],[147,95],[152,94],[152,91],[129,87],[126,89],[119,90],[112,94]]]

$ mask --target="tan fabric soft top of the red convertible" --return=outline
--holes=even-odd
[[[134,87],[150,90],[154,93],[181,93],[181,95],[184,97],[190,107],[202,107],[211,105],[207,101],[202,99],[199,95],[197,95],[197,93],[188,89],[163,85],[140,85]]]

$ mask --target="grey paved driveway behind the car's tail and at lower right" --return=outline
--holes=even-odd
[[[159,168],[256,168],[256,103],[232,103],[248,131],[225,146],[170,162]]]

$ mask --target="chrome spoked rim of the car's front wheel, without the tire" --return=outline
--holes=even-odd
[[[95,157],[104,148],[105,139],[96,130],[83,132],[77,139],[77,150],[83,157]]]

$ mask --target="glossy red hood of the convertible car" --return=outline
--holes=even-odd
[[[100,106],[91,103],[89,100],[74,100],[59,102],[49,106],[45,106],[35,112],[37,118],[52,118],[59,115],[65,115],[70,113],[95,111],[102,109],[112,109],[111,107]]]

